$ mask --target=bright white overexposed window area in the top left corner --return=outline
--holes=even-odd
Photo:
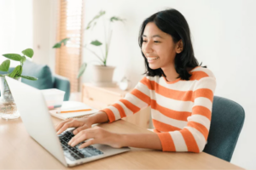
[[[32,48],[32,0],[0,0],[0,62],[2,54]],[[10,66],[20,62],[11,61]]]

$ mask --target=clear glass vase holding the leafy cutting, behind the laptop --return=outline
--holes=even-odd
[[[21,78],[15,78],[18,81],[21,81]],[[20,113],[17,110],[17,105],[15,104],[15,100],[9,86],[5,80],[5,77],[0,77],[0,116],[3,119],[16,119],[20,117]]]

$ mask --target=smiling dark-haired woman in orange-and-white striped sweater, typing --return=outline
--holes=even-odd
[[[189,26],[182,14],[168,9],[143,21],[139,45],[146,77],[124,99],[92,116],[61,122],[57,133],[77,127],[71,146],[108,144],[163,151],[201,152],[207,144],[216,80],[212,71],[198,65]],[[155,133],[110,133],[94,123],[114,122],[151,106]]]

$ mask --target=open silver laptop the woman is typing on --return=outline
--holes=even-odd
[[[67,143],[73,138],[72,130],[66,130],[60,135],[56,134],[42,92],[10,77],[6,77],[6,81],[27,133],[64,166],[73,167],[131,150],[130,148],[115,149],[105,144],[91,144],[84,149],[79,149],[79,145],[84,142],[74,147],[69,146]]]

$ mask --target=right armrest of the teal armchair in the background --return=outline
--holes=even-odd
[[[64,101],[68,101],[70,96],[70,82],[67,77],[61,77],[60,75],[53,75],[54,88],[65,91]]]

